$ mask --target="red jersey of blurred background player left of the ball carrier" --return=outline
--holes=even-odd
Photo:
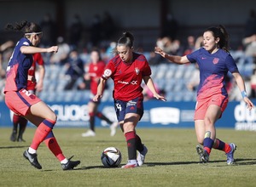
[[[96,64],[90,63],[89,65],[89,75],[90,75],[90,92],[94,95],[97,94],[97,87],[102,73],[104,72],[106,63],[103,61],[98,61]]]

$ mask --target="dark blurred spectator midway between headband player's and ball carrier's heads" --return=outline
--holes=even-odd
[[[71,48],[78,48],[79,47],[79,42],[81,40],[83,32],[83,24],[81,22],[79,14],[74,14],[73,15],[73,21],[71,26],[69,27],[69,45]]]

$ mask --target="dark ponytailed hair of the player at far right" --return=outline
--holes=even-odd
[[[212,36],[216,39],[217,37],[219,38],[218,42],[218,48],[224,49],[226,52],[229,53],[230,46],[229,46],[229,40],[230,40],[230,35],[224,28],[224,26],[219,25],[219,26],[213,26],[207,28],[206,31],[211,31]],[[205,31],[205,32],[206,32]]]

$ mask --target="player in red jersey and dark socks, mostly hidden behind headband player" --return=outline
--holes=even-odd
[[[35,75],[37,65],[38,65],[38,73],[39,73],[38,82],[36,81],[36,75]],[[36,94],[36,91],[41,92],[43,90],[44,73],[45,73],[44,59],[42,57],[42,54],[39,54],[39,53],[33,54],[33,63],[31,68],[28,70],[27,87],[26,87],[26,90],[30,94]],[[25,142],[25,140],[23,139],[23,133],[26,130],[26,124],[27,124],[26,118],[20,115],[14,114],[13,132],[11,133],[11,136],[10,136],[11,141],[17,140],[18,142]],[[17,131],[18,126],[19,126],[19,133]],[[17,133],[18,133],[18,137],[17,137]]]

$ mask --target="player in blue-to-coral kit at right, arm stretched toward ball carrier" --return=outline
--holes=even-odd
[[[207,28],[203,33],[204,46],[192,54],[174,56],[166,54],[156,47],[155,53],[178,65],[197,63],[200,70],[200,85],[197,89],[195,105],[195,133],[197,141],[203,144],[196,146],[200,160],[209,161],[212,148],[223,150],[227,156],[227,164],[235,162],[234,152],[236,144],[224,143],[216,139],[215,122],[222,116],[228,105],[228,93],[224,85],[224,78],[228,71],[235,77],[241,96],[251,110],[253,103],[247,98],[244,81],[239,73],[235,60],[229,53],[229,36],[224,26]]]

